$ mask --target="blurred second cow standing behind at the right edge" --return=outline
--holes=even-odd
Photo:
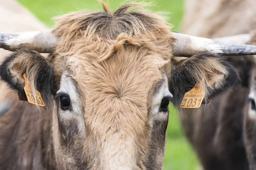
[[[256,43],[256,1],[186,0],[185,4],[182,33],[207,38],[241,34],[237,42]],[[255,170],[255,58],[227,60],[240,81],[196,113],[180,112],[181,124],[205,170]]]

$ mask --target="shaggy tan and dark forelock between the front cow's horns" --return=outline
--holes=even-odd
[[[103,4],[105,11],[76,11],[55,17],[57,23],[52,32],[59,37],[56,51],[83,53],[81,49],[89,45],[85,51],[92,51],[93,48],[93,51],[102,52],[109,48],[120,34],[127,34],[128,37],[141,38],[144,41],[143,44],[169,42],[168,49],[164,50],[170,52],[172,42],[175,40],[170,32],[171,26],[159,13],[143,8],[145,5],[147,4],[128,3],[110,13],[107,6]],[[96,41],[101,43],[92,46],[91,42]]]

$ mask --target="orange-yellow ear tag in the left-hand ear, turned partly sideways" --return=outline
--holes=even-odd
[[[28,84],[28,79],[26,78],[26,74],[23,74],[23,78],[25,80],[25,87],[24,87],[24,91],[26,93],[28,102],[34,105],[38,105],[38,106],[44,106],[44,101],[41,97],[41,94],[39,93],[39,91],[35,90],[36,92],[36,101],[35,98],[33,96],[32,90]]]

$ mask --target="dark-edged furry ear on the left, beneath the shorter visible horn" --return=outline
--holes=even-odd
[[[52,98],[53,67],[48,59],[36,51],[18,50],[0,65],[0,77],[10,88],[19,93],[24,91],[26,74],[32,91],[39,91],[44,101]]]

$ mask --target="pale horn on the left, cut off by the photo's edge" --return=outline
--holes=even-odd
[[[28,48],[39,53],[50,53],[52,51],[52,45],[56,41],[57,38],[52,35],[50,29],[15,34],[0,34],[0,48],[9,51]]]

